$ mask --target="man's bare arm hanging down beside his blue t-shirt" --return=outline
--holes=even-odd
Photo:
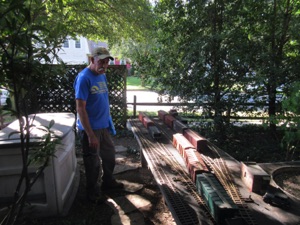
[[[85,107],[86,107],[86,101],[81,100],[81,99],[76,99],[76,110],[78,112],[80,122],[89,138],[90,147],[97,149],[99,146],[99,141],[96,138],[96,136],[91,128],[88,114],[86,112]]]

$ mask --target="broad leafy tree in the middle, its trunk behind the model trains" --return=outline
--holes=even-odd
[[[223,1],[160,1],[156,43],[140,58],[148,62],[153,86],[204,106],[220,133],[229,107],[225,97],[241,92],[249,71],[242,55],[247,35],[235,16],[239,10],[238,3]]]

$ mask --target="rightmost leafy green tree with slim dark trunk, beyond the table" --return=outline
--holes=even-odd
[[[251,68],[256,73],[256,86],[268,96],[270,128],[276,130],[279,88],[285,89],[298,78],[299,71],[299,6],[300,1],[249,1],[244,27],[252,48]]]

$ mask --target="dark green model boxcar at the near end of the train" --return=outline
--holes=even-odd
[[[238,213],[237,205],[213,174],[197,175],[196,187],[218,224],[225,224],[226,218],[232,218]]]

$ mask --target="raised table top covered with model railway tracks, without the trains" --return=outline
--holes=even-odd
[[[146,114],[143,115],[147,117]],[[161,132],[159,140],[151,136],[141,117],[128,120],[128,128],[133,131],[141,147],[143,165],[147,165],[154,175],[177,224],[219,224],[218,217],[210,213],[211,206],[207,206],[205,199],[197,190],[197,179],[191,177],[191,170],[186,163],[187,156],[183,156],[173,143],[173,135],[178,133],[172,129],[176,120],[169,117],[166,124],[165,116],[165,112],[159,111],[158,117],[146,119],[151,120],[151,126],[157,127]],[[181,127],[184,126],[181,124]],[[179,130],[187,131],[185,127]],[[197,147],[197,143],[200,147]],[[210,174],[216,177],[238,209],[238,213],[234,216],[224,215],[222,224],[241,224],[241,221],[248,225],[300,224],[299,200],[291,197],[292,207],[288,211],[265,203],[262,195],[251,192],[241,179],[240,162],[203,137],[194,144],[198,151],[205,147],[205,151],[200,152],[201,158],[211,170]],[[183,153],[183,150],[181,152]],[[267,173],[272,171],[269,168],[273,167],[272,164],[259,166]],[[295,163],[295,167],[297,166],[300,165]],[[270,182],[270,185],[274,184]]]

